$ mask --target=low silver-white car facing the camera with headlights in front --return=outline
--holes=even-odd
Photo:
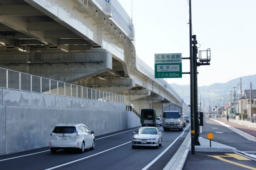
[[[132,147],[154,146],[159,148],[162,145],[162,133],[155,127],[141,127],[133,132]]]

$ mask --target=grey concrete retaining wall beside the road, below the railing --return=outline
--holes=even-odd
[[[0,155],[48,146],[60,123],[85,124],[95,136],[140,126],[125,104],[0,88]]]

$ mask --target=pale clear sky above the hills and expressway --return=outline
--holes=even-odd
[[[156,53],[189,57],[187,0],[118,0],[133,19],[136,53],[154,69]],[[256,0],[192,0],[192,34],[198,51],[211,49],[210,66],[197,67],[198,86],[256,74]],[[189,72],[182,60],[182,72]],[[190,75],[167,78],[190,84]]]

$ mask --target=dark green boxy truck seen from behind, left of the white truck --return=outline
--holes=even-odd
[[[141,126],[154,126],[156,127],[156,113],[154,109],[141,109],[140,123]]]

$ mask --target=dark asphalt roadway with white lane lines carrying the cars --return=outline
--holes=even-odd
[[[51,154],[48,147],[0,156],[1,170],[161,170],[171,160],[190,130],[162,132],[162,146],[132,149],[132,132],[138,128],[96,136],[96,148],[80,154],[75,150],[58,150]]]

